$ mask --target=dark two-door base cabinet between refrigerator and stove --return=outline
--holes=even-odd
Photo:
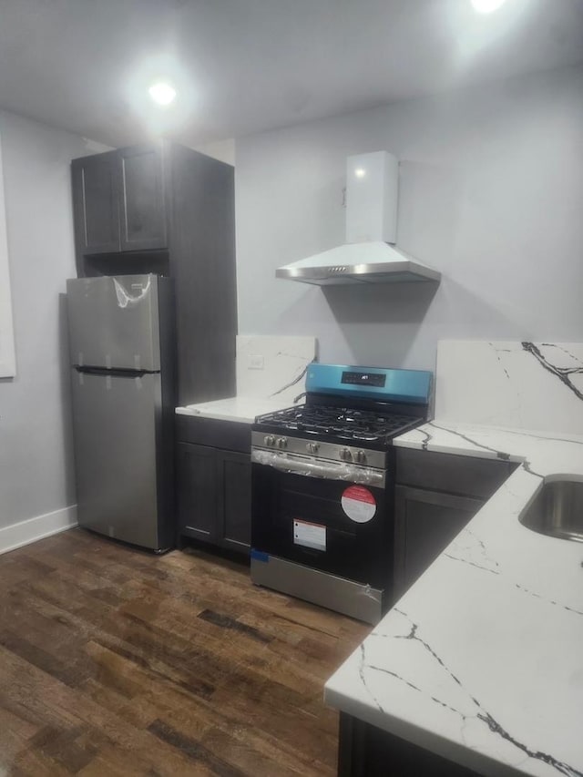
[[[190,422],[190,423],[189,423]],[[220,434],[225,431],[229,434]],[[230,429],[230,426],[242,429]],[[185,418],[178,424],[179,544],[188,538],[249,553],[251,547],[251,432],[247,424]],[[216,427],[216,434],[212,429]],[[249,435],[249,445],[247,445]],[[188,438],[185,441],[185,437]],[[196,440],[196,442],[191,442]],[[214,440],[216,445],[209,445]],[[217,446],[219,445],[219,447]],[[225,445],[225,447],[220,447]],[[243,448],[228,450],[227,445]]]

